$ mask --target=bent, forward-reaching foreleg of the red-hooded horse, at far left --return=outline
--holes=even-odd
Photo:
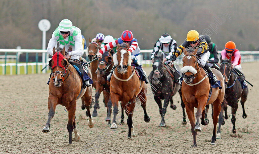
[[[48,98],[48,109],[49,109],[48,121],[47,121],[45,127],[42,130],[43,133],[48,133],[50,131],[49,130],[50,122],[51,122],[51,119],[55,115],[56,105],[57,105],[57,99],[55,97],[49,96],[49,98]]]

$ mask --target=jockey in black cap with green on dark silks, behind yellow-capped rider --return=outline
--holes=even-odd
[[[216,65],[219,62],[217,45],[211,41],[211,37],[209,35],[204,35],[204,38],[208,44],[208,50],[210,52],[210,57],[207,61],[207,64],[208,66],[214,67],[219,70],[219,66]]]

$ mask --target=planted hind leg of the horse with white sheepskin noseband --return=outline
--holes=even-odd
[[[211,144],[212,145],[216,145],[215,141],[216,141],[216,128],[217,128],[217,124],[219,121],[219,114],[221,111],[221,103],[219,99],[216,99],[216,101],[213,102],[213,134],[212,134],[212,138],[211,138]]]

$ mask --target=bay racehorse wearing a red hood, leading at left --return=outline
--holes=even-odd
[[[82,88],[83,82],[76,69],[69,63],[65,58],[65,48],[60,51],[58,48],[57,52],[55,47],[53,48],[53,56],[49,62],[51,67],[51,80],[49,83],[49,97],[48,97],[48,120],[46,126],[42,132],[49,132],[51,119],[55,114],[56,105],[60,104],[66,107],[68,110],[68,133],[69,133],[69,144],[72,144],[72,132],[74,131],[74,139],[79,140],[80,135],[77,133],[75,113],[76,113],[76,101],[79,98],[84,99],[85,107],[90,113],[90,104],[92,103],[92,86],[85,89]],[[94,122],[91,115],[88,116],[88,126],[92,128]]]

